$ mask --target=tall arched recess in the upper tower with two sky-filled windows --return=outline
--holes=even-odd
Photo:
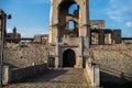
[[[79,6],[74,0],[64,0],[58,7],[59,36],[78,37]]]

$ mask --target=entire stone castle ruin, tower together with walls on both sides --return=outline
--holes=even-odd
[[[74,4],[77,9],[70,13]],[[0,10],[0,16],[3,14]],[[2,24],[0,18],[0,38]],[[21,37],[16,28],[4,34],[4,64],[12,72],[46,64],[84,68],[92,86],[132,81],[132,38],[121,37],[121,30],[106,29],[105,20],[90,20],[89,0],[51,0],[48,34]],[[21,78],[22,74],[15,76]]]

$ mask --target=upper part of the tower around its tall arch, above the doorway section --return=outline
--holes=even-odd
[[[57,36],[59,38],[69,36],[88,36],[88,25],[89,23],[89,12],[88,12],[88,2],[89,0],[51,0],[51,16],[50,16],[50,43],[57,43]],[[69,14],[69,7],[76,3],[79,9],[76,10],[78,15]],[[59,7],[59,9],[57,9]],[[79,16],[79,18],[78,18]],[[67,30],[68,21],[75,22],[74,31]],[[88,24],[88,25],[87,25]],[[62,41],[59,41],[62,42]]]

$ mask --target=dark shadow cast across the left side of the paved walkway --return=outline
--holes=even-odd
[[[44,73],[24,77],[20,80],[15,80],[11,84],[47,82],[47,81],[54,79],[55,77],[65,74],[66,72],[67,72],[67,69],[46,69]]]

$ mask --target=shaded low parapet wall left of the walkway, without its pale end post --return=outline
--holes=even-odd
[[[12,69],[9,72],[10,73],[9,82],[22,80],[26,77],[31,77],[36,74],[37,75],[42,74],[42,73],[46,72],[46,69],[47,69],[47,64],[30,66],[30,67],[20,68],[20,69]]]

